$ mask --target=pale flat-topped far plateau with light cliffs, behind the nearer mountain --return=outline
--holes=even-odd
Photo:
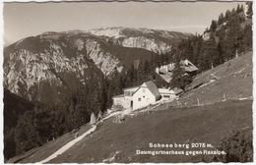
[[[192,36],[191,33],[127,27],[97,28],[88,32],[97,36],[108,36],[114,43],[124,47],[143,48],[156,53],[166,53],[170,51],[173,43]]]

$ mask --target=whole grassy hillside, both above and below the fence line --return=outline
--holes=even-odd
[[[197,98],[203,104],[218,103],[199,107],[170,108],[155,112],[154,115],[141,113],[137,118],[127,117],[126,121],[121,124],[113,123],[114,119],[110,118],[99,126],[94,134],[82,139],[50,162],[102,162],[104,159],[114,156],[117,151],[120,152],[115,156],[114,162],[201,161],[202,155],[151,156],[135,155],[135,151],[136,149],[149,149],[149,142],[209,142],[216,146],[231,131],[240,131],[247,127],[251,130],[252,101],[229,100],[252,96],[251,58],[252,53],[249,52],[198,75],[188,87],[189,90],[179,100],[183,105],[185,103],[186,105],[195,105]],[[192,89],[199,83],[207,83],[213,79],[211,74],[220,77],[220,79],[214,83]],[[219,102],[223,100],[223,93],[225,93],[227,101]],[[63,144],[58,140],[55,140],[58,145]],[[38,153],[44,152],[49,155],[49,152],[52,153],[53,150],[43,149]],[[44,158],[45,155],[44,153]],[[23,162],[39,160],[41,159],[26,158]]]

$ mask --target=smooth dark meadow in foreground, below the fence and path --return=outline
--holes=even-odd
[[[199,156],[136,155],[150,149],[149,142],[209,142],[216,146],[231,131],[252,128],[252,101],[226,101],[191,108],[142,113],[121,124],[109,119],[91,137],[84,138],[50,163],[102,162],[199,162]],[[171,149],[168,149],[171,150]]]

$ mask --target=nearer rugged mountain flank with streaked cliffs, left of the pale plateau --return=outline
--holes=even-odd
[[[32,101],[54,103],[77,86],[99,82],[120,68],[120,60],[96,41],[53,36],[26,38],[5,51],[6,88]]]

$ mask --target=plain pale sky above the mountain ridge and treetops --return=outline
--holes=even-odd
[[[221,13],[244,2],[4,3],[5,46],[45,31],[148,27],[202,33]],[[244,5],[245,6],[245,5]]]

